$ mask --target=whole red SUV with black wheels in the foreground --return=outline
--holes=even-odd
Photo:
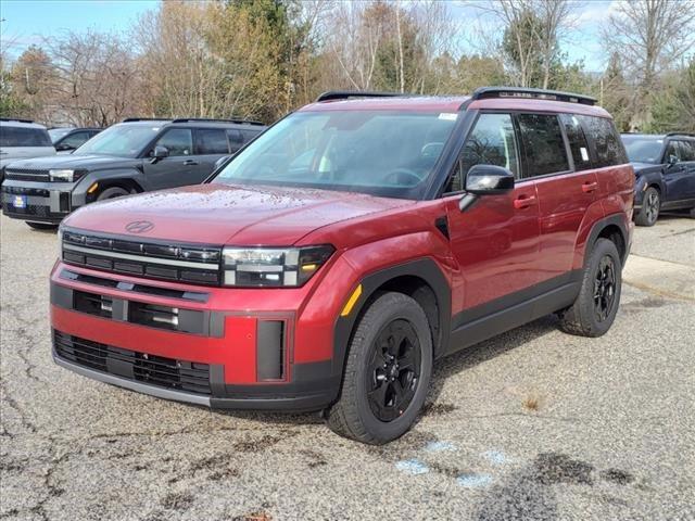
[[[552,313],[572,334],[610,328],[634,174],[593,105],[330,92],[203,185],[86,206],[61,227],[54,359],[393,440],[434,359]]]

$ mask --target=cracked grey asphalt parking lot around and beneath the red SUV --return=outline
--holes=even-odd
[[[546,317],[446,358],[381,447],[56,367],[55,233],[2,217],[1,249],[0,519],[695,519],[691,218],[636,230],[605,336]]]

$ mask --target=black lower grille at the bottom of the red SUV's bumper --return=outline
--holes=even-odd
[[[210,366],[149,355],[53,331],[55,354],[92,370],[159,387],[211,394]]]

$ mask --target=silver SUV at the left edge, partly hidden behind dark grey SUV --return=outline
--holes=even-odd
[[[9,163],[45,155],[55,155],[55,149],[43,125],[28,119],[0,118],[0,182]]]

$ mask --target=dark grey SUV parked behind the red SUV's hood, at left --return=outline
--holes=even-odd
[[[47,229],[94,201],[197,185],[218,160],[264,129],[261,123],[240,119],[125,119],[70,155],[9,164],[2,211],[31,228]]]

